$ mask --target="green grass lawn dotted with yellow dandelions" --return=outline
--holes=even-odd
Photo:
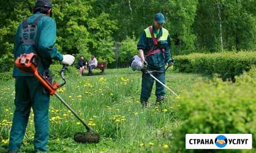
[[[99,71],[96,71],[96,73]],[[155,102],[155,85],[149,103],[142,109],[139,103],[141,73],[131,69],[107,69],[104,75],[79,77],[70,69],[67,84],[59,95],[93,129],[101,135],[97,144],[74,142],[75,132],[85,131],[80,122],[56,97],[50,103],[50,153],[163,153],[172,152],[173,131],[181,119],[172,110],[176,97],[166,90],[166,102]],[[200,74],[180,74],[168,69],[166,85],[178,95],[190,90],[195,81],[208,79]],[[6,152],[14,111],[14,79],[0,81],[0,153]],[[21,153],[33,151],[34,123],[31,114]]]

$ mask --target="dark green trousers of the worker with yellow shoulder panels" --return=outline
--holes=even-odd
[[[159,79],[162,83],[165,84],[165,67],[159,69],[149,69],[149,71],[156,70],[160,72],[153,72],[151,73],[155,76],[156,79]],[[159,82],[155,81],[149,74],[142,74],[142,82],[141,82],[141,94],[140,94],[140,101],[148,101],[153,84],[155,82],[155,95],[156,96],[164,96],[165,95],[165,87],[160,84]]]

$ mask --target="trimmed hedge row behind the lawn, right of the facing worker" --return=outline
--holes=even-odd
[[[220,74],[223,78],[248,71],[256,64],[256,52],[193,53],[175,57],[175,69],[185,73]]]

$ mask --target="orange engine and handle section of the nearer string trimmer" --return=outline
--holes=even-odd
[[[64,80],[64,83],[59,84],[58,82],[49,82],[37,71],[37,67],[40,63],[40,57],[35,53],[21,54],[19,58],[15,60],[15,65],[18,69],[26,73],[32,73],[40,81],[41,84],[48,90],[50,95],[54,95],[56,90],[63,86],[66,83],[66,80],[63,77],[63,71],[61,70],[61,78]],[[64,66],[65,67],[65,66]]]

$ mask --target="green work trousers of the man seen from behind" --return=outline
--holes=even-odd
[[[18,151],[26,131],[31,108],[34,113],[36,152],[47,151],[49,138],[50,95],[43,92],[43,85],[33,76],[16,77],[15,112],[12,121],[8,151]]]

